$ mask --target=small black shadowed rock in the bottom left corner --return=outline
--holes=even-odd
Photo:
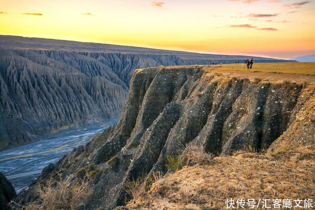
[[[0,209],[9,209],[7,204],[16,196],[14,187],[5,176],[0,173]]]

